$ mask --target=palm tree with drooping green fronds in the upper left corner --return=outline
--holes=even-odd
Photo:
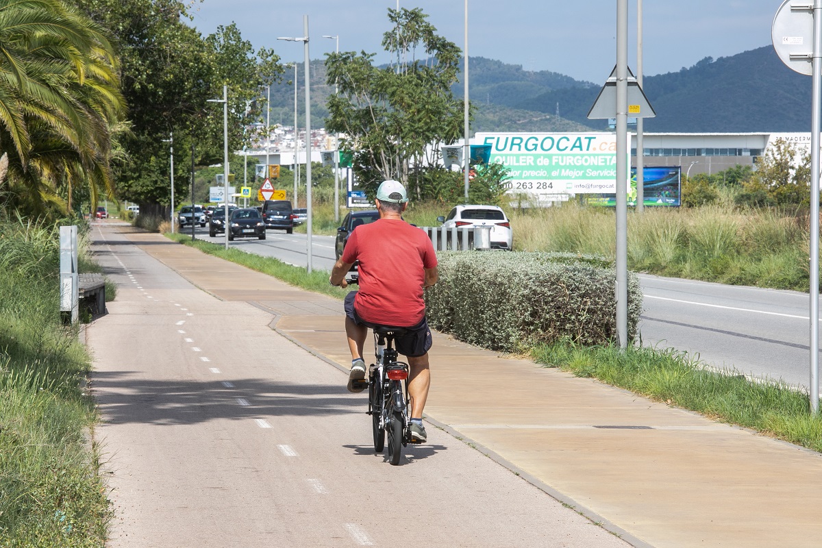
[[[112,128],[123,114],[102,30],[60,0],[0,0],[0,149],[18,206],[64,210],[58,190],[113,196]]]

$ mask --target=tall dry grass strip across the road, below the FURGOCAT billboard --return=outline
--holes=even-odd
[[[615,256],[612,210],[567,203],[509,215],[516,250]],[[805,221],[793,212],[737,210],[727,200],[698,209],[630,211],[628,264],[651,274],[807,291]]]

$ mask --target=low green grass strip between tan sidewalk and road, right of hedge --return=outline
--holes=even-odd
[[[582,347],[561,342],[531,349],[538,363],[592,377],[658,402],[700,412],[822,452],[822,414],[808,397],[781,382],[751,382],[700,366],[671,348]]]

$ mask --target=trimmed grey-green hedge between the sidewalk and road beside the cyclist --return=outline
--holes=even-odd
[[[441,252],[440,281],[426,291],[428,323],[466,343],[516,352],[569,338],[617,338],[616,270],[610,261],[569,253]],[[642,311],[628,274],[628,337]]]

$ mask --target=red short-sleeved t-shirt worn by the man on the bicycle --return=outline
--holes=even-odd
[[[411,327],[423,320],[425,269],[436,266],[427,234],[399,219],[378,219],[358,226],[341,257],[359,260],[357,314],[368,322]]]

